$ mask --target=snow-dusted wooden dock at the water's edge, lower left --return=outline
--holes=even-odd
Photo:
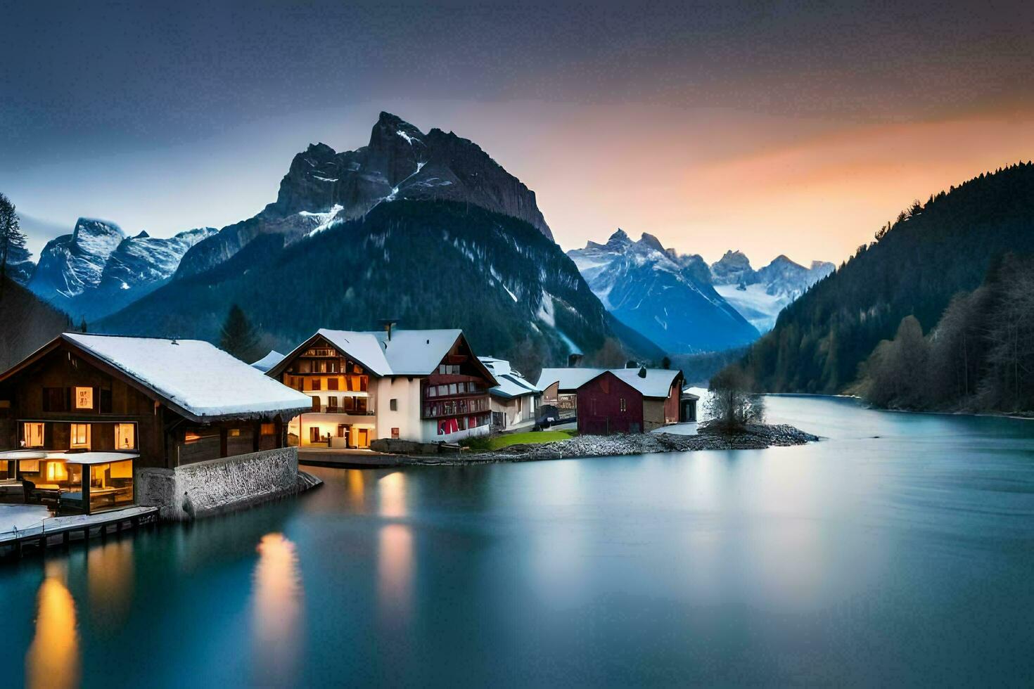
[[[21,558],[26,547],[34,547],[39,552],[52,545],[67,547],[72,539],[86,541],[96,536],[105,538],[109,533],[121,533],[144,525],[153,526],[157,522],[157,507],[126,507],[99,514],[49,516],[38,525],[0,533],[0,549],[6,550],[9,556]]]

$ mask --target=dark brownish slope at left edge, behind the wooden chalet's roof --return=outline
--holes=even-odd
[[[0,286],[0,371],[6,371],[59,334],[71,328],[68,316],[9,278]]]

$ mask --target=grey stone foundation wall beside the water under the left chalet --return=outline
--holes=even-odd
[[[298,448],[280,447],[175,469],[136,469],[136,504],[185,521],[240,509],[309,488],[298,471]]]

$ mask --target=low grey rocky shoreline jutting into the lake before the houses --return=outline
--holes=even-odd
[[[803,445],[819,440],[818,436],[792,426],[750,426],[734,433],[722,433],[702,427],[698,434],[644,433],[614,436],[578,436],[541,444],[510,445],[488,452],[456,456],[409,457],[406,464],[465,465],[500,462],[535,462],[588,457],[616,457],[647,452],[687,452],[699,449],[764,449],[766,447]]]

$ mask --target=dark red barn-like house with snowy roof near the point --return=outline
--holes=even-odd
[[[685,420],[682,383],[681,371],[603,371],[578,387],[578,433],[643,433]]]

